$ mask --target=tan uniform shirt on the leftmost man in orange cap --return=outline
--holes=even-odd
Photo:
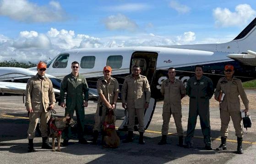
[[[39,79],[38,74],[27,81],[26,108],[33,112],[48,112],[50,104],[55,104],[55,95],[52,82],[49,78]],[[43,108],[42,108],[43,107]]]

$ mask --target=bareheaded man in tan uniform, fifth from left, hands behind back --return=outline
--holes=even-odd
[[[184,84],[181,80],[176,79],[174,67],[168,69],[169,79],[163,81],[161,93],[164,95],[163,101],[163,126],[162,139],[158,142],[159,145],[167,144],[166,138],[169,129],[169,121],[171,115],[174,117],[177,133],[179,136],[179,146],[183,146],[183,128],[181,124],[181,99],[186,95]]]

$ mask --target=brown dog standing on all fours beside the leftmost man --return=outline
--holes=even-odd
[[[75,121],[69,116],[64,118],[54,118],[51,117],[49,120],[49,137],[52,137],[52,151],[55,151],[54,139],[57,138],[58,148],[57,151],[60,150],[60,140],[62,131],[68,126],[74,126]]]

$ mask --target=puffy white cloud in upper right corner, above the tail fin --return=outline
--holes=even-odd
[[[216,26],[244,26],[250,20],[255,18],[256,11],[250,5],[240,4],[235,7],[235,11],[231,12],[227,8],[217,7],[213,10],[213,16]]]

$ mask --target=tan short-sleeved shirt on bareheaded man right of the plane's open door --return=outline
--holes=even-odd
[[[181,94],[186,94],[184,84],[181,80],[175,79],[170,82],[169,79],[163,81],[161,93],[164,94],[163,111],[181,112]]]

